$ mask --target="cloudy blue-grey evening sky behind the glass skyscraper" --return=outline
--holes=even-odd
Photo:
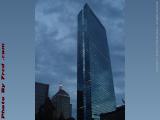
[[[36,81],[50,85],[52,97],[60,83],[70,94],[76,113],[77,14],[88,3],[107,31],[117,105],[124,98],[124,0],[37,0],[35,11]]]

